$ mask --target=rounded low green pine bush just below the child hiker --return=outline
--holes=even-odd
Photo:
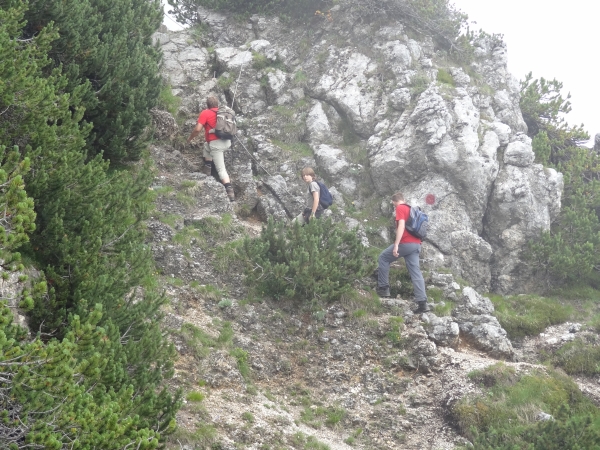
[[[269,220],[259,238],[247,238],[247,281],[275,298],[337,300],[365,273],[364,247],[356,233],[330,219],[306,226]]]

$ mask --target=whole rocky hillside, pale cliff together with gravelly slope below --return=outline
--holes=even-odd
[[[155,113],[148,225],[171,298],[174,384],[204,398],[186,401],[171,448],[452,449],[466,443],[452,406],[480,393],[469,372],[498,360],[543,369],[535,344],[513,347],[478,293],[526,287],[523,244],[560,209],[561,175],[533,163],[506,49],[480,42],[465,70],[400,25],[359,29],[339,14],[308,36],[277,19],[201,11],[201,31],[155,36],[182,105],[173,120]],[[201,142],[180,144],[209,93],[236,98],[233,204],[200,173]],[[329,213],[365,245],[389,242],[383,199],[397,190],[430,214],[427,284],[442,292],[434,312],[379,303],[368,280],[361,302],[322,310],[247,298],[235,257],[223,264],[222,252],[303,207],[306,165],[331,186]],[[580,387],[597,392],[590,380]]]

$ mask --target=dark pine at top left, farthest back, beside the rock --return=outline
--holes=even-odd
[[[54,23],[48,55],[63,68],[64,90],[78,92],[90,155],[113,163],[137,160],[151,138],[150,109],[161,89],[161,54],[152,33],[162,22],[159,0],[31,0],[26,33]]]

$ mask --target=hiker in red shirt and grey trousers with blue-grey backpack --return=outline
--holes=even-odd
[[[392,196],[392,204],[396,210],[396,239],[394,243],[379,255],[377,269],[377,295],[390,296],[390,264],[403,257],[410,274],[417,303],[417,313],[430,310],[425,293],[425,280],[419,268],[421,239],[427,233],[428,217],[418,207],[406,204],[401,193]]]

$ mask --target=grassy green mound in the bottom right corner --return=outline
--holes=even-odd
[[[594,442],[600,432],[598,409],[568,377],[542,371],[517,374],[502,363],[473,372],[470,377],[485,392],[459,401],[453,415],[476,449],[594,448],[565,446],[577,436],[581,442]],[[556,420],[538,422],[541,411]]]

